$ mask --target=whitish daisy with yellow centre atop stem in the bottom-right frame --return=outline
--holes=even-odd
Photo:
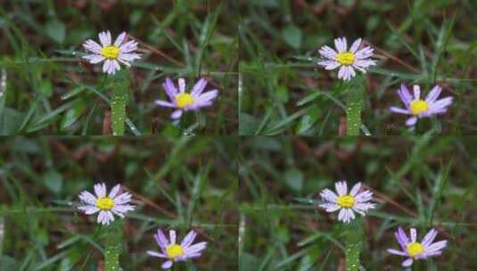
[[[334,186],[338,195],[329,189],[323,190],[320,196],[325,203],[320,204],[319,207],[329,213],[340,210],[338,220],[348,223],[355,218],[355,211],[364,216],[368,209],[374,209],[375,204],[369,202],[373,199],[373,193],[369,190],[358,193],[361,183],[354,185],[350,193],[348,193],[346,181],[337,182]]]

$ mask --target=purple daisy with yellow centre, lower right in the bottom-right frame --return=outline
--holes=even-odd
[[[416,241],[417,231],[415,228],[411,228],[410,234],[411,240],[409,241],[406,233],[402,227],[399,226],[395,235],[401,246],[401,250],[388,250],[391,254],[407,257],[407,259],[402,262],[403,267],[412,266],[415,259],[427,259],[428,257],[438,256],[448,245],[447,240],[432,243],[437,236],[437,231],[435,229],[431,229],[429,233],[425,234],[422,242]]]

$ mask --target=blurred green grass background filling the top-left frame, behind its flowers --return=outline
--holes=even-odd
[[[231,1],[1,1],[0,135],[110,135],[112,89],[101,72],[81,60],[82,43],[111,30],[140,41],[143,58],[126,79],[127,135],[233,134],[237,130],[238,38]],[[151,49],[152,48],[152,49]],[[165,55],[165,56],[164,56]],[[4,76],[4,78],[2,78]],[[218,88],[210,108],[189,112],[176,127],[166,77],[199,77]],[[123,83],[121,83],[123,84]],[[124,84],[123,84],[124,85]]]

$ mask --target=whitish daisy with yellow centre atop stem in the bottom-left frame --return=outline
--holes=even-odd
[[[78,209],[85,212],[86,215],[93,215],[99,212],[97,222],[102,225],[109,225],[114,221],[114,216],[124,218],[125,214],[134,210],[135,206],[127,204],[131,201],[130,193],[119,193],[120,185],[116,185],[111,189],[109,195],[106,194],[106,185],[96,184],[95,194],[83,191],[79,194],[81,205]]]

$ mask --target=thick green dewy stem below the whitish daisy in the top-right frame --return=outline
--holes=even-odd
[[[364,105],[364,80],[355,78],[346,89],[346,135],[359,136],[361,112]]]

